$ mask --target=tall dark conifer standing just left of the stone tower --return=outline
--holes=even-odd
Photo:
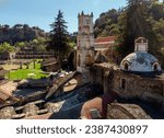
[[[59,10],[55,22],[50,24],[50,41],[48,49],[55,53],[55,57],[61,61],[69,51],[69,41],[67,32],[67,22],[63,20],[63,13]]]

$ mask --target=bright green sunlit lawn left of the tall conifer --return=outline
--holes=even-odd
[[[30,74],[34,74],[30,77]],[[40,79],[43,77],[47,77],[48,74],[43,73],[40,69],[40,64],[36,62],[35,69],[34,69],[34,62],[31,62],[28,66],[28,69],[17,69],[17,70],[11,70],[5,77],[9,80],[22,80],[22,79]]]

